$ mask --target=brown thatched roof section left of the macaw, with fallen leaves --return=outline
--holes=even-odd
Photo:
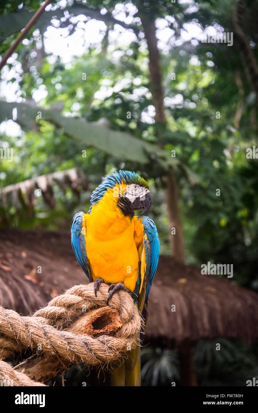
[[[28,315],[86,281],[68,232],[0,229],[0,305]]]

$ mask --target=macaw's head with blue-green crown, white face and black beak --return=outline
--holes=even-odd
[[[106,176],[103,182],[93,191],[91,204],[96,204],[110,192],[117,199],[117,204],[125,215],[134,215],[134,211],[143,209],[146,214],[151,205],[148,183],[138,173],[118,171]]]

